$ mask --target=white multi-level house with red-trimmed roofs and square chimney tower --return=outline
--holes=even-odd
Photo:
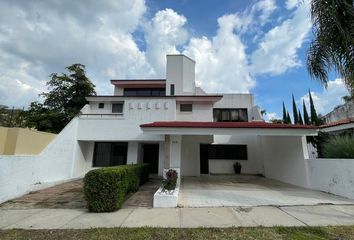
[[[167,55],[165,79],[111,80],[113,95],[87,97],[76,136],[85,170],[149,163],[153,174],[199,176],[233,173],[240,162],[242,173],[265,175],[274,155],[307,152],[304,137],[317,129],[265,123],[252,94],[207,94],[194,69],[192,59]]]

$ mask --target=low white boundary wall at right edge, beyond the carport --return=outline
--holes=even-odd
[[[354,159],[307,159],[309,187],[354,199]]]

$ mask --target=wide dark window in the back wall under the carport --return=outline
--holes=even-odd
[[[247,160],[247,145],[209,145],[208,159]]]

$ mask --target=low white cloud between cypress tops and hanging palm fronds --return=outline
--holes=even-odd
[[[324,89],[323,92],[311,92],[316,111],[322,115],[327,114],[334,107],[342,104],[342,97],[348,94],[348,89],[340,78],[329,81],[327,89]],[[303,100],[309,111],[310,100],[308,93],[300,98],[301,104]]]

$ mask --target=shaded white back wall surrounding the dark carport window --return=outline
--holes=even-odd
[[[241,144],[247,145],[247,160],[222,160],[209,159],[210,173],[234,173],[233,164],[239,162],[242,165],[241,172],[247,174],[262,173],[262,162],[260,161],[260,146],[258,136],[228,136],[215,135],[215,144]]]

